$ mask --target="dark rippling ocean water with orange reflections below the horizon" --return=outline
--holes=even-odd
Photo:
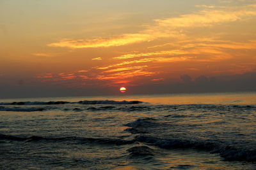
[[[256,169],[256,93],[1,99],[0,169]]]

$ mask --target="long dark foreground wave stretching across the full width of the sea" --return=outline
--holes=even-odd
[[[140,122],[139,120],[138,122]],[[148,120],[146,120],[147,122]],[[150,120],[149,120],[150,121]],[[129,124],[131,125],[131,124]],[[144,124],[146,125],[146,124]],[[136,125],[135,125],[136,126]],[[78,144],[96,143],[97,145],[131,145],[133,143],[146,143],[147,145],[154,145],[164,149],[186,149],[192,148],[195,150],[204,150],[209,153],[218,153],[223,159],[228,161],[248,161],[256,162],[256,150],[253,148],[236,148],[236,146],[228,145],[225,143],[218,143],[207,140],[191,140],[191,139],[170,139],[170,138],[159,138],[150,134],[138,134],[133,139],[113,139],[113,138],[83,138],[83,137],[62,137],[62,138],[48,138],[42,136],[14,136],[0,134],[0,143],[5,141],[20,141],[20,142],[75,142]],[[148,146],[134,146],[129,148],[127,152],[130,155],[155,155],[155,150]]]

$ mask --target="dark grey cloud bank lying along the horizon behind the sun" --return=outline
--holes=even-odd
[[[3,76],[4,78],[4,76]],[[1,80],[3,80],[1,78]],[[85,85],[84,87],[63,87],[47,85],[47,83],[22,82],[23,85],[10,86],[8,83],[1,83],[0,98],[21,98],[21,97],[65,97],[65,96],[115,96],[120,94],[118,87]],[[18,79],[19,80],[19,79]],[[16,83],[17,84],[17,83]],[[198,76],[195,80],[187,75],[180,76],[180,82],[163,81],[162,84],[148,81],[143,85],[127,87],[125,95],[130,94],[173,94],[173,93],[196,93],[196,92],[255,92],[256,71],[218,77]]]

